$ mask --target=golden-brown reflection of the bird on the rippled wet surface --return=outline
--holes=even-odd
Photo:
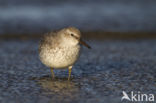
[[[71,95],[79,90],[79,86],[67,78],[55,78],[52,80],[50,76],[44,76],[38,79],[38,84],[46,90],[46,94],[61,93],[62,95]]]

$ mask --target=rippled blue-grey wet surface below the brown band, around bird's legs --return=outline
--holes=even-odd
[[[50,69],[36,40],[0,41],[1,103],[120,103],[122,91],[156,94],[156,41],[90,41],[73,68]]]

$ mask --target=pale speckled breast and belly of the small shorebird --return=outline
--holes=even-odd
[[[75,63],[79,56],[80,46],[72,47],[62,47],[62,48],[53,48],[48,47],[42,48],[40,55],[40,60],[43,64],[48,67],[53,68],[66,68]]]

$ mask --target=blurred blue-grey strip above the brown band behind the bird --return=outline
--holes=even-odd
[[[43,33],[66,26],[155,32],[155,5],[155,0],[0,0],[0,34]]]

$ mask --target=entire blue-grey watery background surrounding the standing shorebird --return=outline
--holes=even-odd
[[[68,26],[92,49],[70,82],[67,69],[51,80],[39,38]],[[121,103],[122,91],[156,94],[156,0],[0,0],[0,103]]]

